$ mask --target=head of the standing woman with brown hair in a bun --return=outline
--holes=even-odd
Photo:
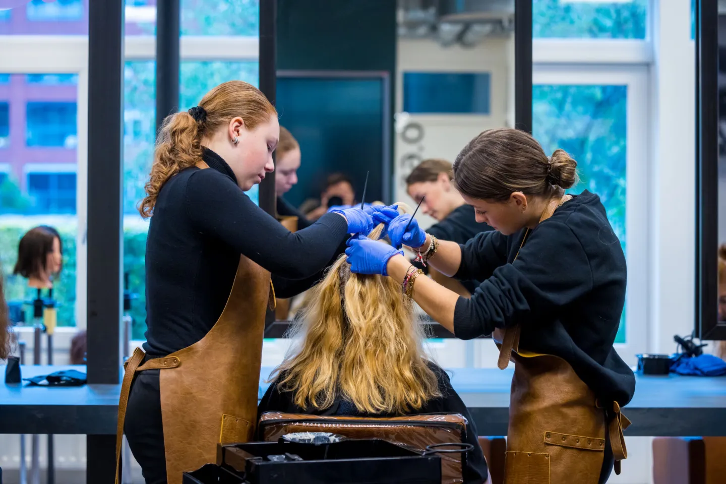
[[[457,156],[454,186],[473,206],[476,221],[510,235],[537,226],[550,200],[576,183],[576,168],[562,149],[547,157],[524,131],[490,129]]]

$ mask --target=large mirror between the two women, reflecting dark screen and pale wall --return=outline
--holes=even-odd
[[[336,198],[361,202],[370,172],[365,202],[413,208],[405,179],[422,160],[453,162],[481,131],[513,127],[514,12],[515,0],[277,0],[276,105],[301,152],[285,200],[315,218]],[[336,173],[352,197],[326,192]],[[281,301],[277,321],[300,300]]]

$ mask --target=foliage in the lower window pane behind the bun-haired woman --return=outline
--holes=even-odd
[[[600,195],[623,250],[627,163],[627,86],[538,85],[532,91],[534,137],[548,155],[562,148],[577,160],[579,183]],[[625,316],[616,343],[625,341]]]

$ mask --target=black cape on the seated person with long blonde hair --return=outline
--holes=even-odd
[[[463,469],[464,483],[481,484],[486,480],[488,474],[484,452],[481,450],[481,446],[479,446],[476,424],[471,418],[469,409],[466,408],[464,402],[461,401],[460,396],[456,393],[454,387],[452,387],[449,375],[443,369],[439,368],[439,366],[433,363],[429,365],[439,380],[441,397],[426,402],[421,409],[412,411],[409,415],[461,414],[465,417],[468,422],[466,425],[466,442],[472,444],[474,450],[467,454],[466,466]],[[259,416],[266,411],[280,411],[288,414],[343,415],[347,417],[396,417],[393,414],[361,414],[352,403],[341,400],[340,398],[333,403],[333,406],[325,410],[301,409],[293,403],[293,396],[291,392],[280,390],[277,382],[273,382],[265,392],[257,408],[258,420]]]

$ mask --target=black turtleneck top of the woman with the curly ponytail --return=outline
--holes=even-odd
[[[294,234],[242,192],[222,158],[187,168],[159,192],[146,244],[144,350],[166,356],[201,340],[221,315],[240,254],[273,274],[289,298],[311,287],[343,249],[346,220],[327,214]],[[295,279],[295,280],[293,280]]]

